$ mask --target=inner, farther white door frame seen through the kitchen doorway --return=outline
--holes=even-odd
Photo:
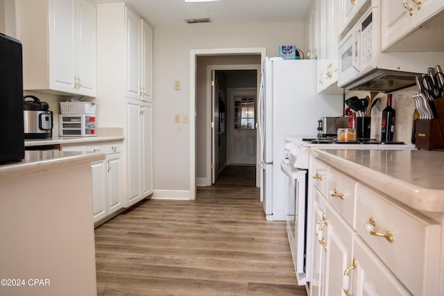
[[[206,85],[207,85],[207,98],[212,97],[212,87],[211,87],[211,80],[212,80],[212,70],[218,71],[218,70],[256,70],[257,73],[261,73],[261,66],[258,64],[209,64],[207,65],[207,78],[206,78]],[[259,76],[258,76],[259,80]],[[257,82],[260,84],[260,80]],[[259,85],[257,85],[257,92],[259,92]],[[228,107],[228,99],[229,94],[227,94],[227,107]],[[228,119],[227,119],[228,120]],[[207,119],[205,122],[210,123],[212,122],[212,106],[210,104],[207,104]],[[214,123],[216,124],[216,123]],[[228,130],[228,126],[227,126]],[[207,173],[206,179],[207,179],[207,186],[212,185],[212,169],[211,169],[211,162],[212,162],[212,128],[209,124],[207,124],[207,139],[210,139],[210,141],[207,141]],[[259,153],[257,153],[259,155]],[[259,159],[260,160],[260,159]]]

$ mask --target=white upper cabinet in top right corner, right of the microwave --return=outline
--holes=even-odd
[[[381,1],[382,51],[444,51],[444,1]]]

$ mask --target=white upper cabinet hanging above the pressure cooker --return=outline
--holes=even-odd
[[[96,96],[96,7],[87,0],[16,1],[24,89]]]

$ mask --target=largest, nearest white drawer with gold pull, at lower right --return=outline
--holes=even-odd
[[[441,225],[362,184],[357,185],[356,201],[361,238],[413,295],[438,295]],[[379,236],[370,234],[372,230]]]

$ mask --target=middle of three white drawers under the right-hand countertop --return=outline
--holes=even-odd
[[[330,168],[327,199],[352,227],[355,226],[355,186],[357,182]]]

